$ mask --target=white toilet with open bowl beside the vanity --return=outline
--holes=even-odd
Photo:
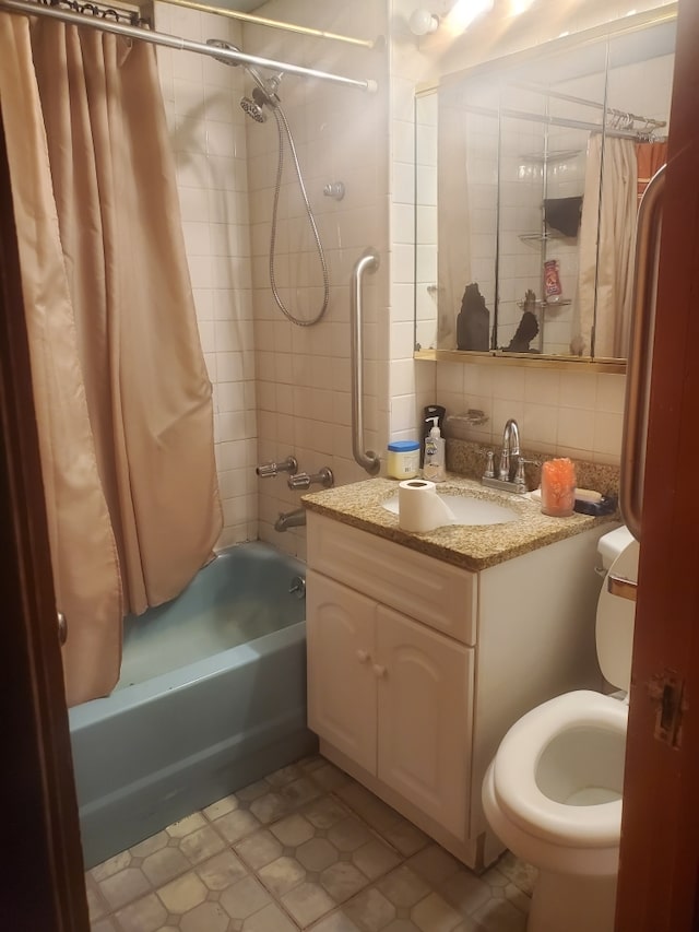
[[[600,539],[607,574],[636,581],[638,543],[624,527]],[[565,693],[507,732],[483,782],[500,841],[538,869],[528,932],[613,932],[636,603],[600,593],[596,646],[619,689]]]

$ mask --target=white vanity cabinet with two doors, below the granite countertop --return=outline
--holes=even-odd
[[[479,573],[308,512],[308,724],[320,750],[464,863],[502,850],[481,807],[507,729],[600,686],[596,541]]]

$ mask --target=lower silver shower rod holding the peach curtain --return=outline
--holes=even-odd
[[[233,64],[257,64],[260,68],[270,68],[274,71],[283,71],[288,74],[299,74],[304,78],[318,78],[321,81],[345,84],[371,93],[376,92],[378,87],[376,81],[371,79],[368,81],[357,81],[354,78],[332,74],[330,71],[317,71],[313,68],[304,68],[300,64],[291,64],[285,61],[276,61],[272,58],[261,58],[258,55],[246,55],[244,51],[234,51],[233,49],[220,48],[218,46],[205,45],[204,43],[192,42],[191,39],[180,38],[179,36],[171,36],[167,33],[156,33],[139,26],[129,26],[126,23],[117,23],[112,20],[96,19],[84,13],[71,13],[67,10],[58,10],[56,7],[44,7],[42,3],[35,2],[35,0],[0,0],[0,10],[5,10],[10,13],[22,13],[27,16],[47,16],[51,20],[61,20],[74,26],[87,26],[88,28],[100,30],[105,33],[116,33],[116,35],[151,43],[151,45],[162,45],[179,49],[180,51],[208,55],[211,58],[224,59]]]

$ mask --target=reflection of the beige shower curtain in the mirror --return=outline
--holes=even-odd
[[[600,181],[602,178],[602,181]],[[588,143],[571,352],[623,358],[633,288],[636,143],[593,133]],[[599,220],[599,228],[597,228]],[[597,241],[599,240],[599,241]]]

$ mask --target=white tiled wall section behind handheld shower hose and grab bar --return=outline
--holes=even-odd
[[[312,0],[271,0],[261,15],[374,39],[386,35],[383,4],[360,0],[346,4],[318,4]],[[365,308],[365,426],[366,445],[386,445],[389,422],[388,270],[394,260],[404,268],[407,287],[413,281],[412,246],[393,257],[389,251],[388,188],[388,56],[291,33],[246,25],[247,51],[270,58],[347,74],[372,78],[379,93],[325,84],[287,75],[280,96],[296,143],[308,198],[318,222],[330,274],[330,303],[320,323],[299,328],[288,322],[274,304],[269,281],[269,246],[274,180],[277,166],[277,130],[272,117],[263,125],[247,126],[248,184],[252,250],[254,342],[258,363],[259,459],[280,460],[294,453],[299,469],[317,472],[329,465],[336,484],[366,477],[352,458],[350,373],[350,276],[368,246],[378,249],[381,266],[367,274]],[[412,229],[412,145],[403,127],[402,149],[410,163],[406,190],[411,207],[395,204],[393,225]],[[308,222],[291,169],[288,150],[280,199],[275,279],[280,293],[295,316],[313,316],[322,300],[322,275]],[[342,181],[343,200],[323,196],[325,185]],[[401,209],[403,207],[403,209]],[[411,243],[403,234],[403,241]],[[299,256],[299,244],[301,255]],[[396,335],[406,343],[400,378],[414,397],[412,367],[412,308]],[[299,493],[291,492],[286,476],[259,481],[259,535],[276,546],[305,555],[305,532],[274,531],[280,511],[299,507]]]

